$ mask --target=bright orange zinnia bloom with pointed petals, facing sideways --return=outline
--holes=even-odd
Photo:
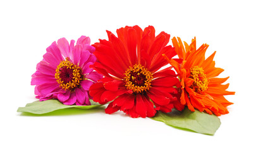
[[[210,115],[214,113],[217,116],[229,113],[226,108],[230,103],[224,98],[225,95],[235,94],[235,92],[226,91],[229,84],[222,85],[229,77],[217,78],[224,70],[216,68],[213,61],[216,52],[205,59],[205,51],[209,47],[203,44],[196,49],[196,40],[188,45],[181,42],[181,39],[174,37],[172,39],[178,57],[183,59],[179,64],[176,60],[169,60],[167,55],[164,55],[181,80],[181,104],[188,106],[188,109],[195,111],[206,111]]]

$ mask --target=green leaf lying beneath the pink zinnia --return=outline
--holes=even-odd
[[[33,113],[36,115],[42,115],[45,113],[50,113],[59,109],[66,108],[80,108],[80,109],[92,109],[102,106],[100,104],[91,101],[90,106],[76,106],[76,105],[64,105],[56,99],[48,99],[46,101],[35,101],[33,103],[28,103],[25,107],[18,108],[18,112]]]

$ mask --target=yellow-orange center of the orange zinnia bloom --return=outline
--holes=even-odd
[[[204,74],[204,69],[202,67],[192,67],[190,68],[190,77],[194,80],[192,89],[195,89],[196,92],[204,92],[208,89],[209,81],[206,78],[206,74]]]

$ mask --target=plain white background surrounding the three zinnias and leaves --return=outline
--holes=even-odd
[[[253,1],[1,1],[0,150],[255,150],[255,14]],[[37,100],[31,75],[52,42],[86,35],[94,43],[126,25],[153,25],[188,43],[196,36],[197,47],[210,45],[207,56],[217,51],[219,77],[230,76],[236,94],[214,136],[103,109],[16,113]]]

